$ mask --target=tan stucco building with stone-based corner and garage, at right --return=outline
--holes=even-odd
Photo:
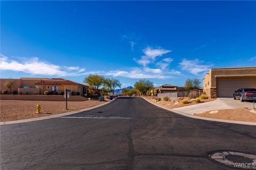
[[[203,78],[203,91],[211,98],[233,97],[239,88],[256,88],[256,67],[211,69]]]

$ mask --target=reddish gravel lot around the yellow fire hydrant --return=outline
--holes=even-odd
[[[79,109],[100,105],[107,101],[87,100],[68,101],[30,101],[30,100],[0,100],[0,121],[18,121],[27,118],[51,116],[60,113],[77,111]],[[36,113],[36,105],[41,105],[41,113]]]

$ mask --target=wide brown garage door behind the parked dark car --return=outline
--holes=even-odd
[[[256,78],[218,78],[217,97],[233,97],[240,88],[256,88]]]

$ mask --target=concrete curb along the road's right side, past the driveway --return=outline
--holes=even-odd
[[[145,99],[145,98],[143,98],[143,99]],[[169,109],[169,108],[166,108],[166,107],[163,107],[163,106],[159,106],[159,105],[157,105],[157,104],[155,104],[155,103],[153,103],[153,102],[151,102],[147,99],[145,99],[145,100],[148,101],[148,103],[151,103],[151,104],[153,104],[157,107],[160,107],[160,108],[166,109],[167,111],[171,111],[171,112],[180,114],[182,116],[190,117],[190,118],[196,118],[196,119],[200,119],[200,120],[214,121],[214,122],[225,122],[225,123],[235,123],[235,124],[245,124],[245,125],[256,126],[256,123],[254,123],[254,122],[230,121],[230,120],[223,120],[223,119],[217,119],[217,118],[207,118],[207,117],[194,116],[194,115],[190,115],[190,114],[187,114],[187,113],[184,113],[184,112],[174,111],[173,109]]]

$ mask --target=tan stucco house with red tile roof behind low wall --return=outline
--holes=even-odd
[[[0,79],[0,91],[9,91],[4,84],[6,81],[14,81],[12,91],[17,91],[19,95],[44,95],[45,91],[56,91],[59,95],[64,94],[66,89],[71,90],[71,95],[83,96],[87,86],[81,83],[66,79],[49,78],[20,78],[20,79]]]

